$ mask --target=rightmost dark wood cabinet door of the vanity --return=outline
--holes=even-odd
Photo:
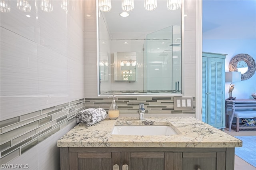
[[[183,152],[183,170],[225,170],[225,152]]]

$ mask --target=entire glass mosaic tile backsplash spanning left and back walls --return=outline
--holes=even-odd
[[[108,112],[111,102],[112,99],[108,97],[84,98],[1,121],[1,164],[8,163],[66,127],[71,121],[76,121],[79,111],[103,108]],[[144,103],[146,114],[195,114],[195,98],[194,109],[183,111],[174,110],[174,97],[117,97],[116,103],[121,115],[137,116],[139,103]]]

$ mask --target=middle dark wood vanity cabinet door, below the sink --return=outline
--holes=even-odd
[[[129,162],[129,170],[164,170],[164,152],[130,152],[130,160],[128,154],[122,152],[122,162]]]

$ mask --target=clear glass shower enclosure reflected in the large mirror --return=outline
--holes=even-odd
[[[147,93],[181,93],[180,30],[180,26],[170,26],[146,36],[144,89]]]

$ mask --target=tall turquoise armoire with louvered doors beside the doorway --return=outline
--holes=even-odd
[[[224,59],[203,57],[202,121],[224,128]]]

